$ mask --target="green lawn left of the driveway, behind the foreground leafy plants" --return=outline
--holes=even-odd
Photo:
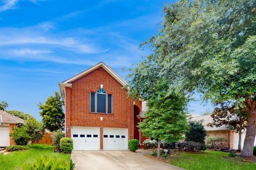
[[[26,151],[15,151],[11,154],[0,155],[0,169],[22,169],[24,165],[34,162],[40,156],[70,159],[70,155],[53,152],[52,146],[35,144],[30,145],[30,149]]]

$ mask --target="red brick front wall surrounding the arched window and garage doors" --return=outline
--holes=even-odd
[[[100,67],[71,83],[72,88],[66,87],[67,137],[71,136],[71,126],[87,126],[100,127],[101,132],[102,128],[129,128],[129,139],[133,139],[133,100],[115,78]],[[107,94],[113,95],[112,114],[90,113],[90,92],[97,92],[100,84]],[[141,102],[136,103],[141,108]],[[101,140],[101,149],[102,143]]]

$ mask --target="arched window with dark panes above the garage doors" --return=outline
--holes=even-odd
[[[105,89],[98,89],[96,93],[91,92],[91,112],[111,114],[112,95],[107,94]]]

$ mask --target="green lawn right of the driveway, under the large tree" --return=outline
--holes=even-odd
[[[256,169],[256,164],[244,163],[236,158],[231,158],[228,153],[221,151],[206,150],[204,154],[182,153],[170,158],[172,165],[188,170],[227,170],[227,169]]]

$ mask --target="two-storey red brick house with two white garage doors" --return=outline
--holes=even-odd
[[[145,139],[137,128],[142,102],[127,96],[127,82],[111,67],[98,63],[59,87],[74,150],[127,150],[129,139]]]

